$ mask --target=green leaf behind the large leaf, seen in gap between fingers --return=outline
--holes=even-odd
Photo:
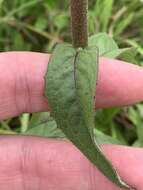
[[[41,136],[56,139],[66,139],[64,133],[57,127],[55,120],[50,117],[49,112],[34,113],[29,123],[29,129],[25,135]],[[118,140],[94,129],[94,138],[99,144],[122,144]]]

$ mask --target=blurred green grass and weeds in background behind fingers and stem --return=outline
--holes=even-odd
[[[69,2],[0,0],[0,51],[51,52],[56,43],[71,42]],[[135,47],[136,64],[143,65],[143,1],[90,0],[89,4],[90,35],[106,32],[120,47]],[[0,134],[25,132],[30,118],[23,114],[1,121]],[[102,137],[109,135],[119,144],[143,146],[143,104],[98,110],[96,127]]]

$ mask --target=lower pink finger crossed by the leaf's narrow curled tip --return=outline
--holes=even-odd
[[[34,137],[0,138],[0,189],[120,190],[72,144]],[[143,189],[142,149],[103,146],[121,177]]]

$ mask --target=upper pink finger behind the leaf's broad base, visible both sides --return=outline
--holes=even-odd
[[[0,119],[49,109],[44,97],[48,54],[0,54]],[[143,69],[118,60],[100,59],[96,107],[115,107],[143,99]]]

